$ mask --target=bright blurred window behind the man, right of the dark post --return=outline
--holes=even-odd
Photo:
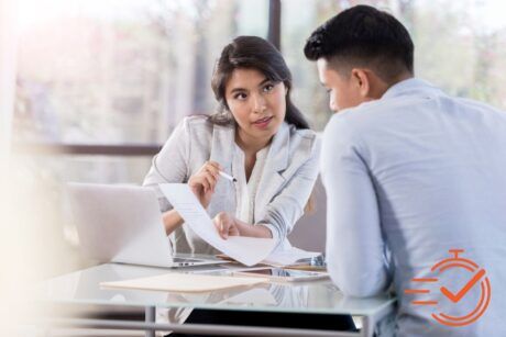
[[[408,27],[417,77],[448,93],[506,109],[504,1],[284,0],[282,50],[294,74],[294,101],[317,130],[323,128],[331,112],[316,65],[304,56],[304,45],[318,25],[355,4],[387,10]]]

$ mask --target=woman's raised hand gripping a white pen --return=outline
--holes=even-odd
[[[194,194],[200,201],[200,204],[207,209],[215,193],[215,187],[220,178],[221,167],[216,161],[206,161],[202,167],[190,177],[188,186]]]

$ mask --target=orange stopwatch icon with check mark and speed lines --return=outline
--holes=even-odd
[[[440,324],[447,326],[464,326],[475,322],[480,318],[483,313],[488,307],[491,302],[491,281],[486,276],[485,269],[481,268],[476,262],[471,259],[462,258],[459,254],[463,252],[463,249],[450,249],[450,255],[454,255],[450,258],[446,258],[436,265],[432,266],[430,269],[431,272],[439,276],[438,278],[414,278],[411,279],[413,282],[419,283],[432,283],[437,284],[439,282],[440,277],[451,271],[454,268],[460,268],[465,270],[470,278],[465,282],[464,287],[461,288],[457,293],[450,291],[446,287],[439,287],[440,293],[449,299],[452,303],[458,304],[465,295],[474,288],[480,288],[481,294],[477,304],[466,314],[463,316],[452,316],[449,314],[440,313],[432,313],[432,318],[435,318]],[[404,291],[405,294],[427,294],[430,293],[429,289],[406,289]],[[438,301],[411,301],[414,305],[433,305],[437,307]]]

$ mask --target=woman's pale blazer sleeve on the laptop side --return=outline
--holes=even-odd
[[[170,210],[172,205],[158,184],[188,180],[189,139],[188,119],[185,119],[176,126],[161,151],[153,158],[150,171],[142,183],[155,190],[162,212]]]

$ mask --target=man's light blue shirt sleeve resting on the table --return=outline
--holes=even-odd
[[[320,164],[327,193],[327,262],[344,294],[372,296],[389,281],[376,194],[361,145],[344,119],[336,115],[329,122]]]

